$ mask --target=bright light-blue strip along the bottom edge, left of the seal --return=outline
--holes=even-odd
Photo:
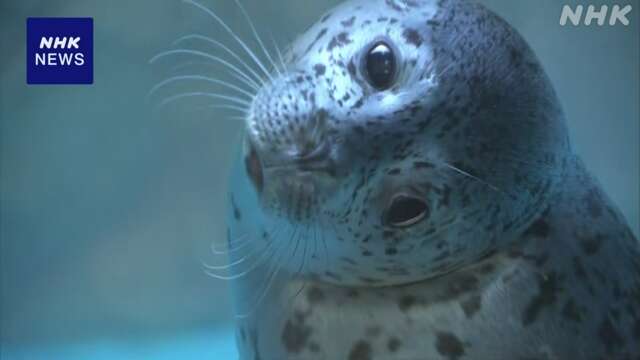
[[[227,360],[237,359],[230,329],[156,341],[94,341],[70,345],[2,346],[2,360]]]

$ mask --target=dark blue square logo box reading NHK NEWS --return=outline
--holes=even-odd
[[[27,84],[93,84],[93,19],[27,18]]]

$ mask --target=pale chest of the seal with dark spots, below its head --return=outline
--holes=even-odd
[[[290,291],[281,294],[293,296],[270,299],[255,319],[243,324],[247,333],[259,334],[246,342],[254,349],[245,353],[304,360],[459,356],[488,328],[500,326],[496,319],[507,307],[496,308],[505,302],[492,299],[501,293],[496,263],[429,284],[398,287],[306,283],[300,291],[301,284],[292,282]],[[510,271],[503,267],[500,273]],[[502,341],[493,340],[496,346]]]

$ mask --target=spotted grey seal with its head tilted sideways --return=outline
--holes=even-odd
[[[281,62],[217,269],[242,359],[640,358],[638,241],[505,21],[351,0]]]

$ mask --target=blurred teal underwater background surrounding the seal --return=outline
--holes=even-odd
[[[637,236],[639,1],[614,27],[560,26],[578,1],[481,2],[541,58],[575,151]],[[233,1],[201,3],[251,38]],[[284,46],[339,1],[242,3]],[[93,85],[26,85],[25,20],[39,16],[94,18]],[[173,40],[229,35],[178,0],[2,0],[0,18],[0,358],[233,359],[227,285],[203,261],[225,238],[242,123],[146,98],[170,76],[149,60]]]

